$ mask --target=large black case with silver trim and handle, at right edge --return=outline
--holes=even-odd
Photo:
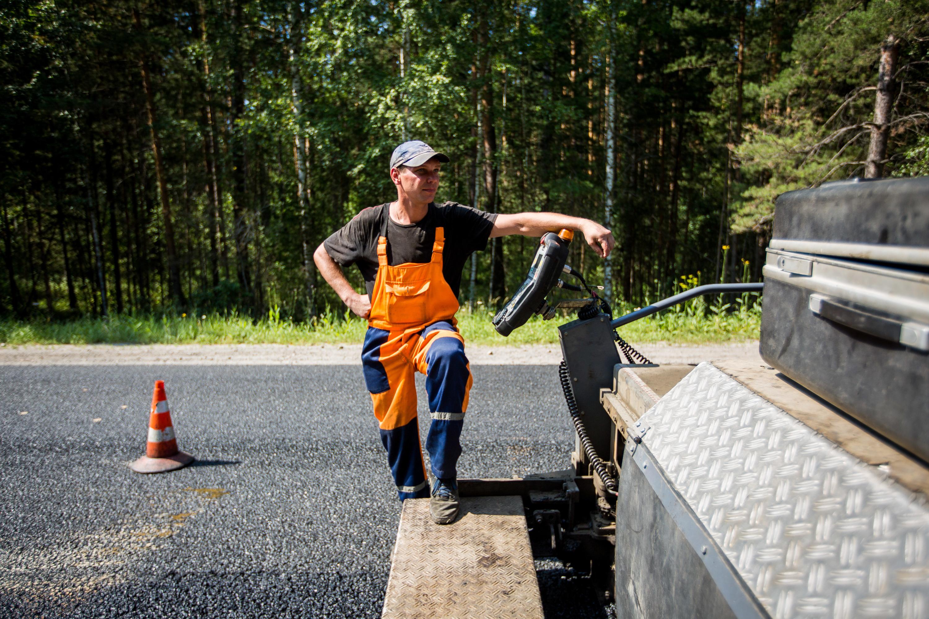
[[[794,191],[778,209],[762,357],[929,459],[929,178]]]

